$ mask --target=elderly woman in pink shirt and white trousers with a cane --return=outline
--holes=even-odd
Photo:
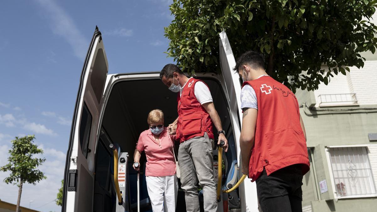
[[[145,175],[152,210],[174,212],[178,192],[174,143],[164,127],[164,113],[161,110],[150,111],[147,122],[149,129],[140,134],[133,160],[134,163],[139,162],[141,152],[145,151]],[[138,167],[133,168],[139,171]]]

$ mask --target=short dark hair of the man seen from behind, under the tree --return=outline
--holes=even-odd
[[[243,65],[251,66],[253,69],[264,69],[264,57],[259,52],[247,51],[238,58],[233,70],[238,72],[238,69]]]

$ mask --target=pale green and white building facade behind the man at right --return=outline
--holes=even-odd
[[[377,210],[377,54],[362,56],[363,68],[296,92],[311,165],[303,211]]]

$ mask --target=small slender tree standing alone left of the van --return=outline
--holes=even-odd
[[[18,186],[17,212],[20,207],[22,184],[32,183],[35,185],[36,182],[46,179],[43,172],[37,169],[46,159],[37,157],[37,154],[43,154],[43,150],[38,149],[38,146],[34,144],[34,139],[34,135],[15,137],[15,140],[11,141],[12,149],[9,150],[9,163],[0,167],[0,171],[10,172],[9,177],[6,177],[4,182]]]

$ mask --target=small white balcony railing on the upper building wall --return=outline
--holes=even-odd
[[[356,94],[321,94],[319,106],[338,106],[357,104]]]

